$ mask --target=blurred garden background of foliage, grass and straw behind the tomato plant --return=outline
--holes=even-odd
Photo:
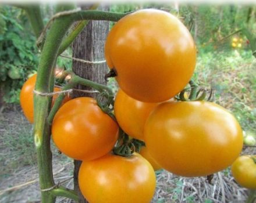
[[[44,23],[54,14],[55,5],[42,5]],[[113,12],[142,8],[162,9],[179,17],[189,28],[198,49],[193,76],[198,85],[212,88],[214,101],[239,120],[244,136],[256,134],[256,59],[250,42],[240,29],[256,33],[255,5],[193,5],[178,3],[111,4]],[[113,26],[113,23],[111,23]],[[31,136],[32,125],[19,106],[24,81],[37,72],[38,49],[26,13],[15,6],[0,5],[0,202],[40,202],[37,160]],[[72,56],[67,49],[66,56]],[[72,67],[72,60],[59,57],[57,66]],[[116,90],[116,83],[109,86]],[[254,139],[246,145],[255,146]],[[73,162],[54,151],[56,180],[72,177]],[[244,146],[243,153],[256,153]],[[158,187],[152,202],[244,202],[248,191],[234,182],[230,169],[214,176],[188,179],[159,171]],[[66,183],[72,187],[72,180]],[[69,202],[60,198],[60,202]]]

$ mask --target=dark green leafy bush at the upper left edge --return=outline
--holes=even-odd
[[[21,9],[0,7],[0,83],[3,100],[19,102],[19,92],[27,75],[37,69],[35,37]]]

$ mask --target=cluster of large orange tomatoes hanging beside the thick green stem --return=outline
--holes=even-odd
[[[206,176],[236,160],[243,136],[229,111],[214,103],[172,99],[190,81],[196,58],[193,38],[179,19],[155,9],[128,14],[109,32],[105,57],[120,86],[114,104],[117,122],[89,97],[63,104],[52,122],[59,150],[83,161],[79,186],[89,202],[150,202],[154,169]],[[26,105],[32,106],[22,102]],[[130,140],[144,142],[136,150],[140,154],[111,152],[119,127]]]

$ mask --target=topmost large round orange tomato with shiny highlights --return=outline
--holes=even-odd
[[[168,12],[138,10],[120,19],[105,44],[120,88],[142,102],[163,102],[189,82],[196,49],[190,32]]]

